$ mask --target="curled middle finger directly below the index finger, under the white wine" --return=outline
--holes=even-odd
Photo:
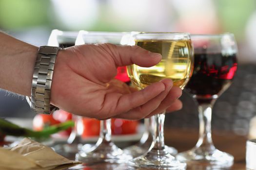
[[[161,104],[161,102],[169,94],[173,86],[173,83],[170,79],[162,80],[161,83],[165,85],[165,90],[162,91],[157,97],[151,99],[150,101],[146,102],[143,105],[138,105],[138,107],[134,109],[125,111],[123,112],[123,114],[117,115],[116,117],[123,118],[123,119],[142,119],[142,118],[145,118],[150,113],[152,113],[154,110],[156,110]]]

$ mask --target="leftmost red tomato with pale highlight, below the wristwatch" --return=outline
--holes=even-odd
[[[41,131],[44,127],[59,123],[59,120],[53,119],[53,115],[37,114],[33,119],[33,129],[36,131]]]

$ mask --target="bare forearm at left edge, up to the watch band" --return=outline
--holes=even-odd
[[[38,47],[0,33],[0,88],[30,96]]]

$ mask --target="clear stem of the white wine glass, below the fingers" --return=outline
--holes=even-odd
[[[163,134],[164,118],[165,112],[151,117],[154,131],[154,150],[163,150],[165,146]]]

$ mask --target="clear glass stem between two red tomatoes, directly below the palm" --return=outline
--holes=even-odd
[[[111,119],[100,120],[100,134],[102,142],[111,142]]]

